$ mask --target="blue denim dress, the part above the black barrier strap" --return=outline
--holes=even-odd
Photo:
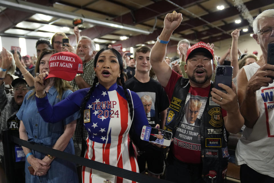
[[[17,117],[19,120],[22,120],[24,123],[26,132],[29,138],[28,141],[51,147],[56,143],[58,138],[63,134],[64,126],[69,124],[73,120],[77,119],[78,112],[74,113],[68,118],[65,118],[61,122],[58,122],[55,124],[46,123],[41,118],[37,110],[35,96],[33,95],[29,98],[29,95],[32,92],[33,91],[31,90],[26,94],[23,104],[17,113]],[[71,93],[72,93],[71,90],[64,91],[62,95],[62,100],[65,99]],[[58,98],[58,92],[54,86],[49,89],[47,96],[49,99],[49,103],[52,106],[61,101]]]

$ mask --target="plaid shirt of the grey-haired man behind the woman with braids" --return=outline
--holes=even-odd
[[[94,59],[91,59],[90,61],[88,61],[87,63],[83,64],[83,74],[82,74],[82,78],[90,85],[92,85],[93,83],[93,79],[95,77],[95,71],[94,71]],[[74,89],[74,91],[78,90],[79,87],[76,84],[75,80],[73,79],[72,81],[70,81],[70,85],[72,86],[72,89]],[[73,141],[75,140],[81,140],[81,128],[78,125],[79,124],[79,120],[77,119],[77,124],[76,124],[76,128],[75,128],[75,132],[72,136]],[[85,128],[82,129],[83,130],[83,135],[84,135],[84,140],[86,140],[86,137],[88,136],[88,132],[86,131]]]

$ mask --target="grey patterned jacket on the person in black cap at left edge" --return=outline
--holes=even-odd
[[[0,133],[1,130],[8,128],[7,120],[15,115],[20,106],[16,104],[14,97],[11,95],[7,95],[5,92],[5,85],[2,84],[0,86]],[[3,156],[3,144],[0,142],[0,155]]]

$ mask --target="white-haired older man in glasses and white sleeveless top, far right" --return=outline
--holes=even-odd
[[[253,38],[263,56],[238,73],[238,99],[245,126],[236,148],[241,182],[274,182],[274,65],[267,64],[269,43],[274,43],[274,9],[253,22]]]

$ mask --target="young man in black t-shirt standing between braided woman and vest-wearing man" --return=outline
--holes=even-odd
[[[150,48],[146,46],[138,47],[135,50],[136,72],[134,77],[126,82],[126,87],[136,92],[140,97],[150,126],[155,127],[156,124],[160,124],[160,127],[163,128],[169,100],[161,84],[149,77],[151,69],[149,54]],[[160,178],[164,169],[163,152],[151,144],[144,145],[140,136],[133,136],[132,139],[140,152],[144,152],[137,158],[140,173],[145,171],[147,162],[148,175]]]

